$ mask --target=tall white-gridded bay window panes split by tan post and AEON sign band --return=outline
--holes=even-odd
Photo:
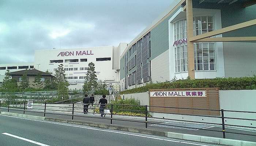
[[[187,38],[187,20],[173,23],[174,41]],[[197,16],[193,18],[194,35],[204,34],[214,30],[213,16]],[[188,71],[187,44],[174,46],[175,72]],[[194,43],[195,70],[216,70],[215,43]]]

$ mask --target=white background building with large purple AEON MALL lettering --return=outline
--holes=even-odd
[[[88,64],[95,64],[98,82],[112,84],[119,90],[120,80],[120,50],[124,50],[127,43],[120,43],[118,47],[86,47],[75,49],[35,50],[33,63],[0,64],[0,82],[3,81],[6,70],[14,72],[23,69],[48,70],[55,74],[58,65],[63,64],[69,89],[81,89],[87,73]],[[117,86],[115,86],[117,85]]]

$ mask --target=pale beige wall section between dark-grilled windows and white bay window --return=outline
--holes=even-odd
[[[151,78],[153,82],[169,81],[169,50],[151,60]]]

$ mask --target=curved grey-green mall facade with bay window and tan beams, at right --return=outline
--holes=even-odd
[[[256,74],[256,5],[248,2],[174,0],[122,53],[121,90],[173,78]],[[239,23],[244,26],[233,28]]]

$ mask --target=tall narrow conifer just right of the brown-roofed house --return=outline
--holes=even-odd
[[[65,79],[65,71],[63,64],[58,66],[55,74],[54,84],[57,86],[58,98],[59,99],[68,99],[68,81]]]

